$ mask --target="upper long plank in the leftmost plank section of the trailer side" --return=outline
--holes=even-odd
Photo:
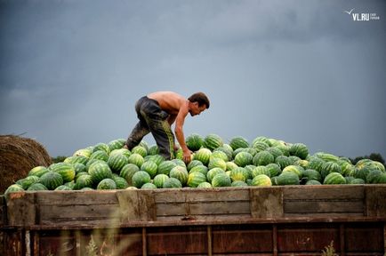
[[[117,190],[93,190],[93,191],[39,191],[36,194],[37,204],[60,205],[92,205],[92,204],[118,204]]]

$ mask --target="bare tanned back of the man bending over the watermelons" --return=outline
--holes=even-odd
[[[159,107],[173,116],[178,114],[184,104],[188,104],[188,100],[176,92],[152,92],[148,98],[157,100]]]

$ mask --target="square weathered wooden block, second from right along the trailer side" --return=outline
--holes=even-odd
[[[283,189],[281,187],[250,188],[252,217],[283,217]]]

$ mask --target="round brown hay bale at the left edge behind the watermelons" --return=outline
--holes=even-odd
[[[36,140],[15,135],[0,135],[0,195],[29,170],[52,164],[45,148]]]

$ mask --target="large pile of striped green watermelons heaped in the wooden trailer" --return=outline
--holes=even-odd
[[[218,188],[246,186],[386,183],[385,167],[369,159],[351,164],[342,156],[310,155],[302,143],[263,136],[249,143],[237,136],[225,143],[219,135],[193,133],[186,138],[194,152],[185,164],[181,149],[175,159],[158,155],[157,145],[142,141],[128,150],[125,140],[112,140],[76,150],[48,167],[36,166],[5,194],[23,190],[92,190],[131,188]]]

